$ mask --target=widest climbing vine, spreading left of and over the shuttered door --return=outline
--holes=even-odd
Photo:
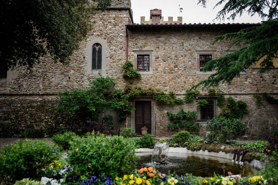
[[[92,84],[90,89],[60,93],[57,110],[68,114],[78,112],[84,119],[94,119],[103,109],[111,109],[118,113],[119,119],[125,119],[128,113],[135,110],[130,100],[142,95],[153,95],[158,102],[167,104],[182,102],[173,91],[166,94],[160,89],[152,87],[145,89],[137,86],[126,86],[124,90],[117,89],[116,79],[99,75],[100,77],[90,83]]]

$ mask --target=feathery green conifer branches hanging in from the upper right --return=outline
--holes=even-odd
[[[206,2],[207,0],[199,0],[198,3],[206,7]],[[264,73],[274,69],[272,60],[278,56],[278,0],[221,0],[215,7],[223,4],[223,9],[217,13],[215,18],[217,20],[222,21],[225,18],[234,20],[236,16],[247,12],[250,16],[258,14],[264,21],[259,27],[249,27],[239,32],[217,36],[213,44],[231,40],[233,42],[230,48],[239,44],[243,47],[234,53],[209,61],[203,71],[215,70],[217,72],[198,83],[194,88],[200,85],[207,88],[218,86],[223,82],[230,84],[235,77],[239,77],[240,72],[245,72],[245,69],[262,57],[265,58],[260,64],[262,67],[260,72]]]

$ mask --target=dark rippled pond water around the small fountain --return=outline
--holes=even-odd
[[[255,174],[259,169],[255,169],[246,164],[240,165],[231,162],[231,160],[194,155],[187,153],[168,153],[168,164],[153,165],[151,163],[151,153],[137,153],[139,159],[137,162],[137,168],[153,166],[161,173],[177,175],[184,175],[191,173],[195,176],[210,177],[213,176],[214,172],[220,175],[227,176],[228,171],[231,171],[234,175],[240,174],[244,177],[249,177]]]

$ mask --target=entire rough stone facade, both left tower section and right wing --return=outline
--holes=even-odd
[[[81,42],[80,49],[71,57],[68,66],[54,63],[50,56],[41,58],[32,73],[25,68],[15,69],[17,78],[11,84],[0,84],[0,127],[14,124],[19,130],[29,127],[43,128],[78,127],[78,117],[67,118],[55,111],[57,93],[75,88],[89,88],[89,82],[98,74],[88,70],[92,42],[97,39],[105,43],[105,70],[102,75],[117,78],[118,88],[124,88],[122,64],[126,61],[126,28],[132,17],[130,1],[114,1],[109,10],[94,16],[94,28],[88,38]],[[233,31],[233,30],[229,30]],[[180,97],[186,89],[206,79],[208,75],[198,75],[196,50],[215,50],[215,58],[227,54],[229,42],[211,45],[215,36],[225,34],[224,29],[153,29],[129,31],[128,60],[134,61],[133,50],[153,50],[153,74],[142,75],[140,80],[130,81],[131,85],[143,88],[161,88],[164,92],[173,90]],[[233,50],[239,47],[232,48]],[[254,93],[278,92],[278,70],[260,74],[259,69],[250,67],[246,75],[241,75],[231,83],[221,84],[220,90],[237,100],[246,101],[249,114],[244,115],[246,134],[249,138],[267,138],[278,126],[277,106],[264,102],[256,106]],[[206,90],[201,95],[207,94]],[[239,94],[239,95],[235,95]],[[185,110],[197,110],[195,101],[184,103]],[[169,106],[155,102],[155,127],[157,136],[173,134],[167,128],[169,123],[166,112],[178,112],[180,106]],[[220,108],[218,108],[220,111]],[[131,127],[131,116],[127,125]],[[123,123],[124,124],[124,123]],[[124,125],[123,125],[124,126]],[[203,125],[205,127],[205,124]],[[204,127],[200,134],[204,134]]]

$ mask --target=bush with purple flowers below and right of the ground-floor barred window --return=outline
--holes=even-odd
[[[209,140],[226,143],[226,140],[236,139],[245,133],[244,123],[239,119],[218,116],[207,121],[206,129],[210,132]]]

